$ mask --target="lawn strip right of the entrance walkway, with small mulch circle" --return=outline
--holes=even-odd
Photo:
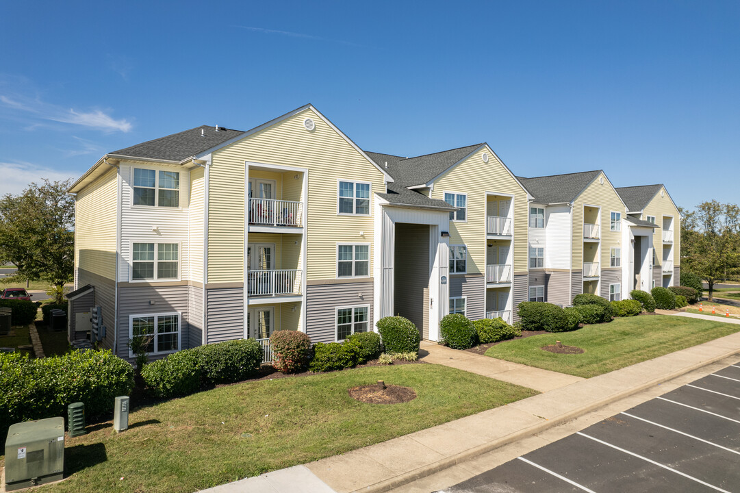
[[[740,331],[740,325],[671,315],[616,318],[573,332],[535,335],[491,347],[486,356],[554,372],[590,378],[650,360],[669,352]],[[581,355],[559,355],[539,349],[555,341],[585,349]]]

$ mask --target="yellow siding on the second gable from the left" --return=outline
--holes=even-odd
[[[483,153],[488,153],[488,163]],[[527,270],[527,193],[487,146],[434,182],[431,198],[444,200],[445,192],[468,194],[467,222],[450,221],[450,244],[468,246],[468,274],[485,272],[486,194],[514,195],[514,271]]]

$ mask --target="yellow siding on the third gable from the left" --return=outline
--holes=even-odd
[[[602,184],[599,180],[604,178]],[[609,268],[610,249],[618,248],[622,241],[622,231],[610,231],[611,212],[619,212],[622,218],[625,218],[625,205],[619,198],[616,190],[610,185],[604,173],[599,175],[591,182],[581,195],[573,203],[573,269],[583,268],[583,207],[584,205],[601,207],[601,255],[599,263],[602,269]],[[622,227],[625,227],[622,224]],[[593,245],[596,248],[596,245]],[[622,251],[622,261],[624,261],[625,252]]]

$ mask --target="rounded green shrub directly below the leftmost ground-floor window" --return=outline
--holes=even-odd
[[[174,398],[198,392],[201,389],[198,351],[184,349],[147,363],[141,369],[141,377],[155,397]]]

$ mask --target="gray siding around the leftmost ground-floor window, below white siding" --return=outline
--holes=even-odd
[[[152,301],[154,302],[152,304]],[[131,315],[181,312],[180,349],[189,346],[188,286],[120,286],[118,288],[118,356],[129,357]],[[157,358],[156,355],[154,358]]]

